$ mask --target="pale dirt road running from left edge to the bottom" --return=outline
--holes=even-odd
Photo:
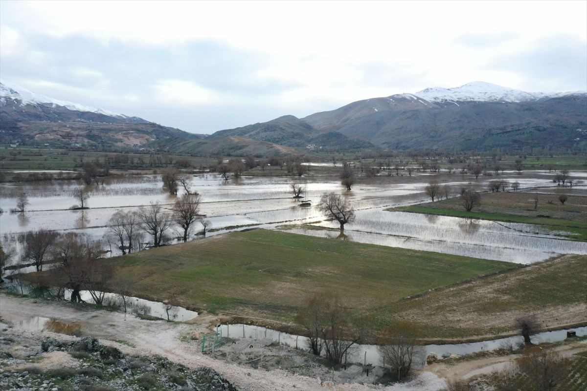
[[[88,310],[72,307],[69,303],[35,300],[0,294],[0,317],[15,327],[35,328],[35,317],[57,318],[61,321],[77,321],[83,325],[83,333],[99,338],[126,353],[157,354],[190,368],[208,366],[242,390],[389,390],[389,391],[437,391],[444,387],[444,380],[431,372],[422,372],[413,381],[395,386],[370,386],[357,383],[328,386],[321,379],[292,375],[285,370],[259,370],[216,360],[202,355],[197,341],[187,337],[191,331],[203,331],[207,325],[181,324],[164,321],[146,321],[132,315],[106,310]],[[31,324],[31,320],[33,320]],[[39,331],[41,332],[41,331]],[[52,334],[42,331],[46,334]],[[136,346],[113,342],[122,340]],[[327,379],[323,379],[327,380]]]

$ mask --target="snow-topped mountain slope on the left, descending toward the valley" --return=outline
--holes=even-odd
[[[164,138],[203,137],[36,94],[6,80],[0,81],[0,131],[5,142],[52,147],[141,148]]]

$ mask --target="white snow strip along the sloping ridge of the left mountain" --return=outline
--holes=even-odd
[[[62,106],[73,111],[88,111],[90,113],[103,114],[109,117],[128,118],[126,115],[114,113],[113,111],[104,110],[102,108],[84,106],[83,104],[58,100],[41,94],[36,94],[31,90],[25,89],[25,87],[19,86],[16,83],[0,79],[0,103],[6,103],[7,99],[19,100],[21,102],[21,106],[25,106],[27,104],[32,104],[33,106],[39,104],[52,107]]]

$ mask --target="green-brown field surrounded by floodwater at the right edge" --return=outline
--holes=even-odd
[[[551,201],[552,203],[548,203]],[[467,212],[461,200],[429,202],[420,205],[403,206],[393,210],[428,213],[454,217],[467,217],[500,222],[541,225],[556,236],[566,239],[587,241],[587,197],[569,195],[565,205],[558,201],[558,195],[538,195],[538,208],[534,210],[534,193],[486,193],[481,206]],[[538,217],[537,215],[549,216]]]

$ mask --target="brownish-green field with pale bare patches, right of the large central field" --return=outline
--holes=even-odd
[[[535,314],[543,328],[587,323],[587,256],[564,256],[443,288],[380,308],[379,314],[382,323],[397,317],[426,323],[438,337],[514,331],[522,314]]]

